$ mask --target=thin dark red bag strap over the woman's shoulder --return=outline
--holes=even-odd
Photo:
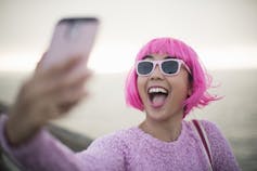
[[[207,134],[203,128],[203,126],[201,124],[201,122],[196,119],[193,119],[192,120],[193,122],[193,126],[203,143],[203,146],[205,148],[205,154],[207,155],[208,157],[208,161],[209,161],[209,165],[210,165],[210,169],[213,170],[213,155],[211,155],[211,150],[210,150],[210,146],[209,146],[209,141],[208,141],[208,137],[207,137]]]

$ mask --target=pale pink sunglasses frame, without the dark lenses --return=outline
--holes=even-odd
[[[178,70],[177,70],[176,73],[174,73],[174,74],[166,74],[166,73],[163,70],[162,64],[165,63],[165,62],[169,62],[169,61],[172,61],[172,62],[177,62],[177,63],[178,63]],[[146,75],[139,74],[139,71],[138,71],[138,66],[139,66],[139,64],[140,64],[140,63],[143,63],[143,62],[150,62],[150,63],[153,64],[152,70],[151,70],[149,74],[146,74]],[[181,69],[181,65],[183,65],[183,66],[185,67],[185,69],[188,70],[188,73],[191,74],[189,66],[188,66],[182,60],[179,60],[179,58],[167,58],[167,60],[158,60],[158,61],[152,61],[152,60],[140,60],[140,61],[138,61],[138,62],[136,63],[136,71],[137,71],[137,75],[138,75],[138,76],[150,76],[150,75],[152,75],[152,74],[154,73],[154,69],[155,69],[156,65],[159,66],[160,73],[162,73],[163,75],[165,75],[165,76],[175,76],[175,75],[178,75],[179,71],[180,71],[180,69]]]

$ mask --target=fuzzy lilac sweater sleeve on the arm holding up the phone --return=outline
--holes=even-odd
[[[100,171],[121,170],[123,157],[115,150],[101,150],[98,146],[108,146],[99,142],[89,150],[75,154],[48,131],[41,130],[29,142],[12,147],[4,136],[7,117],[0,117],[0,143],[17,162],[28,171]]]

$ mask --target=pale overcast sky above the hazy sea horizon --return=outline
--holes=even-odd
[[[257,68],[256,0],[0,0],[0,69],[31,69],[56,21],[82,15],[102,23],[97,71],[128,69],[143,43],[164,36],[192,45],[207,66]]]

